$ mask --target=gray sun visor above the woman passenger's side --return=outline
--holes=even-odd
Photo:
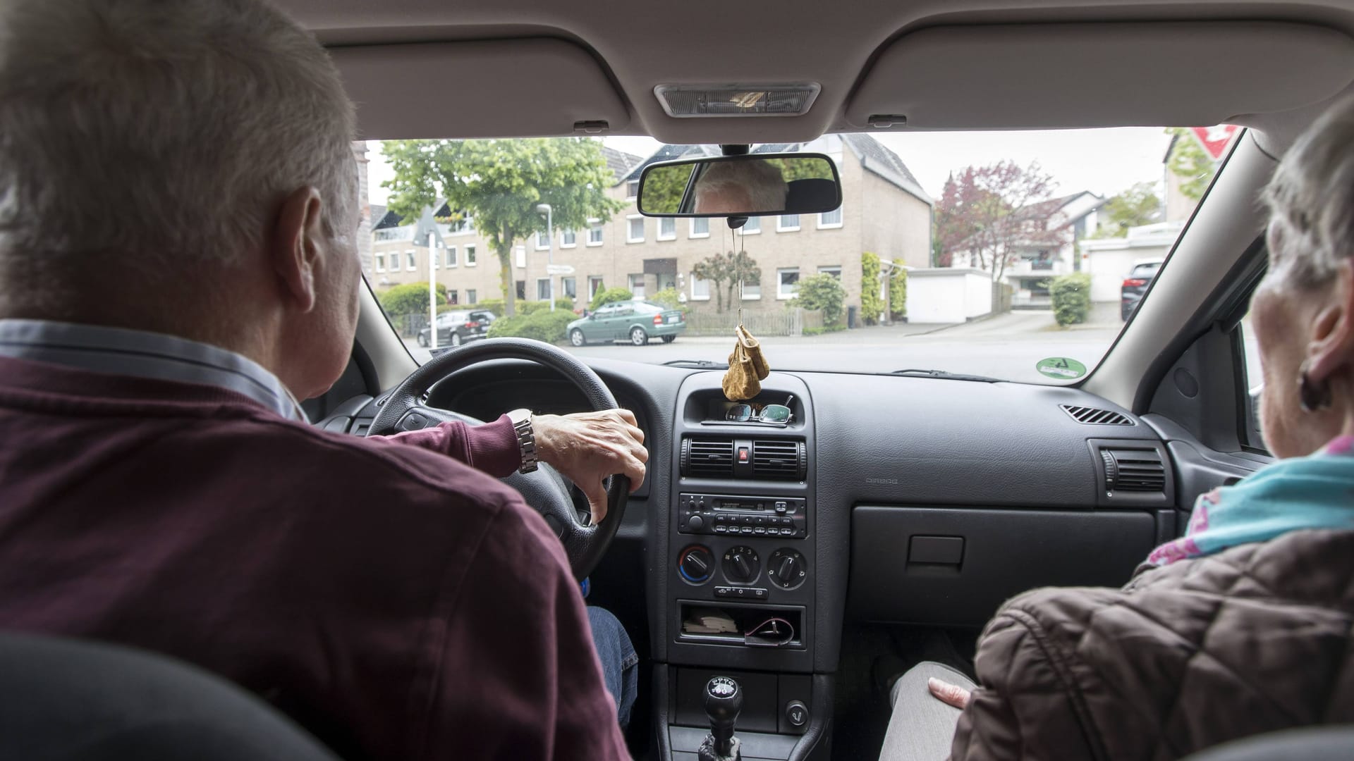
[[[845,129],[1219,125],[1327,99],[1354,39],[1285,22],[932,27],[883,47]]]

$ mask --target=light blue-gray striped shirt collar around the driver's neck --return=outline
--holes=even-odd
[[[89,372],[229,389],[290,420],[301,405],[276,375],[233,351],[164,333],[50,320],[0,320],[0,356]]]

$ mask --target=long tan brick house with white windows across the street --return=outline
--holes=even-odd
[[[627,207],[608,221],[581,230],[556,230],[554,249],[542,233],[517,241],[513,280],[519,298],[544,299],[550,294],[547,255],[574,274],[555,279],[555,292],[574,298],[581,309],[598,287],[627,287],[636,297],[677,288],[696,309],[714,309],[711,284],[692,276],[701,259],[742,246],[761,267],[760,283],[745,283],[743,309],[779,310],[793,298],[800,276],[830,272],[846,288],[846,305],[860,306],[861,253],[926,267],[930,259],[932,199],[903,161],[869,135],[825,135],[810,144],[766,145],[757,152],[807,150],[833,157],[842,177],[842,206],[812,215],[760,217],[737,233],[723,219],[655,219],[639,215],[635,194],[643,168],[655,161],[714,154],[711,146],[663,146],[640,158],[609,148],[603,152],[616,177],[608,190]],[[439,206],[441,206],[439,203]],[[398,283],[427,282],[427,236],[416,238],[416,225],[372,207],[372,259],[368,278],[379,290]],[[437,217],[445,217],[441,206]],[[501,298],[498,260],[474,232],[473,221],[443,225],[445,248],[433,271],[447,286],[450,301],[475,303]]]

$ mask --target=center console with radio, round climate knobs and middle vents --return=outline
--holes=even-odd
[[[739,414],[719,372],[692,375],[678,395],[673,490],[661,573],[665,616],[655,665],[662,745],[695,760],[712,678],[741,685],[743,757],[826,757],[831,680],[815,674],[816,494],[808,389],[772,374],[750,404],[785,405],[787,424]],[[657,569],[655,569],[657,570]],[[839,628],[839,624],[838,624]],[[831,643],[835,647],[835,640]]]

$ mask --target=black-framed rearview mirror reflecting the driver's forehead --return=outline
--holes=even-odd
[[[636,200],[646,217],[818,214],[842,204],[842,188],[822,153],[757,153],[651,164]]]

